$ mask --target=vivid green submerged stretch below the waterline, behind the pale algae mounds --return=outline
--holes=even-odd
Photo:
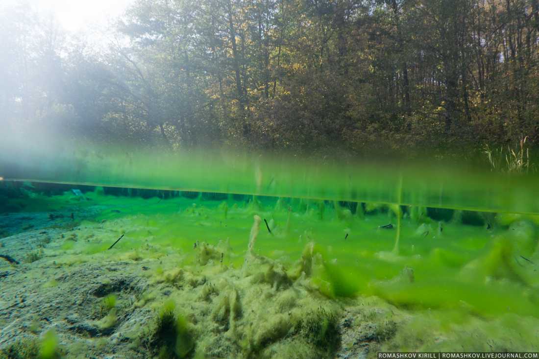
[[[116,246],[120,252],[151,256],[151,250],[144,250],[150,243],[176,248],[189,263],[196,260],[197,241],[226,243],[224,262],[236,267],[243,263],[253,216],[259,215],[271,233],[262,222],[257,253],[293,268],[313,245],[322,260],[312,280],[331,298],[376,295],[398,306],[539,316],[537,215],[434,209],[427,213],[424,207],[371,203],[350,208],[350,203],[253,196],[85,196],[88,201],[81,202],[71,192],[40,198],[45,202],[36,198],[34,209],[99,204],[106,209],[80,225],[114,223],[110,230],[118,236],[125,233]],[[392,228],[383,227],[388,224]],[[110,244],[66,241],[63,249],[107,256]]]

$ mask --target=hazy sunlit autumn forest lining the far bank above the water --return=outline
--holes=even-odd
[[[539,144],[539,0],[138,0],[100,37],[0,13],[4,128],[171,149]]]

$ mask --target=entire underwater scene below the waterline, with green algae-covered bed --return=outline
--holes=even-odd
[[[539,350],[533,212],[7,179],[1,358]]]

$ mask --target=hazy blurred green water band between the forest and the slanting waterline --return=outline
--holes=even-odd
[[[51,137],[52,136],[52,137]],[[95,144],[58,135],[0,141],[5,180],[539,213],[539,176],[464,161],[398,162]],[[31,138],[32,141],[27,139]],[[486,162],[483,161],[483,162]]]

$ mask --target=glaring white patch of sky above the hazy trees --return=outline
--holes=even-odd
[[[122,15],[134,0],[7,0],[8,3],[25,1],[40,12],[52,13],[68,32],[84,32],[106,25],[110,19]],[[3,1],[2,1],[3,2]]]

